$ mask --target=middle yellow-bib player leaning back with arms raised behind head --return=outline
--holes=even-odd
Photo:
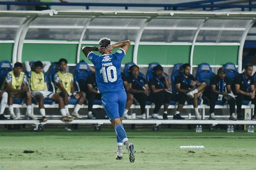
[[[62,114],[62,121],[72,121],[69,117],[67,117],[66,110],[64,108],[64,102],[61,96],[58,94],[54,94],[53,92],[49,92],[46,86],[46,80],[44,79],[44,70],[43,63],[41,61],[36,61],[34,63],[34,70],[28,70],[30,67],[26,67],[28,71],[29,84],[32,91],[32,96],[36,99],[39,105],[39,111],[42,115],[42,121],[47,121],[45,116],[44,109],[44,99],[49,98],[55,100],[59,103],[60,113]]]

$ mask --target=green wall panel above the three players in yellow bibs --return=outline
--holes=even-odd
[[[76,64],[77,44],[32,44],[23,45],[22,63],[24,61],[56,62],[61,58],[69,64]]]

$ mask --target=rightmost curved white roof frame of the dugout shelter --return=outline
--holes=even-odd
[[[246,29],[243,32],[243,35],[241,37],[240,46],[238,50],[238,72],[242,72],[242,58],[243,58],[243,49],[244,49],[244,42],[246,39],[246,36],[252,27],[252,25],[256,22],[256,18],[254,18],[248,25],[246,26]]]

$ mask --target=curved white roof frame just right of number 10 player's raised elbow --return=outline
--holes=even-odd
[[[141,35],[145,29],[145,27],[148,25],[148,23],[155,17],[148,18],[143,25],[141,26],[140,30],[138,31],[137,37],[135,39],[134,49],[133,49],[133,56],[132,56],[132,62],[137,64],[138,63],[138,49],[139,49],[139,43]]]

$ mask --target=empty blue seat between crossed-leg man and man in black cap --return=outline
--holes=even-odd
[[[212,72],[212,68],[208,63],[202,63],[198,66],[197,72],[196,72],[196,80],[199,82],[205,82],[207,84],[207,87],[210,86],[210,80],[212,76],[215,74]]]

